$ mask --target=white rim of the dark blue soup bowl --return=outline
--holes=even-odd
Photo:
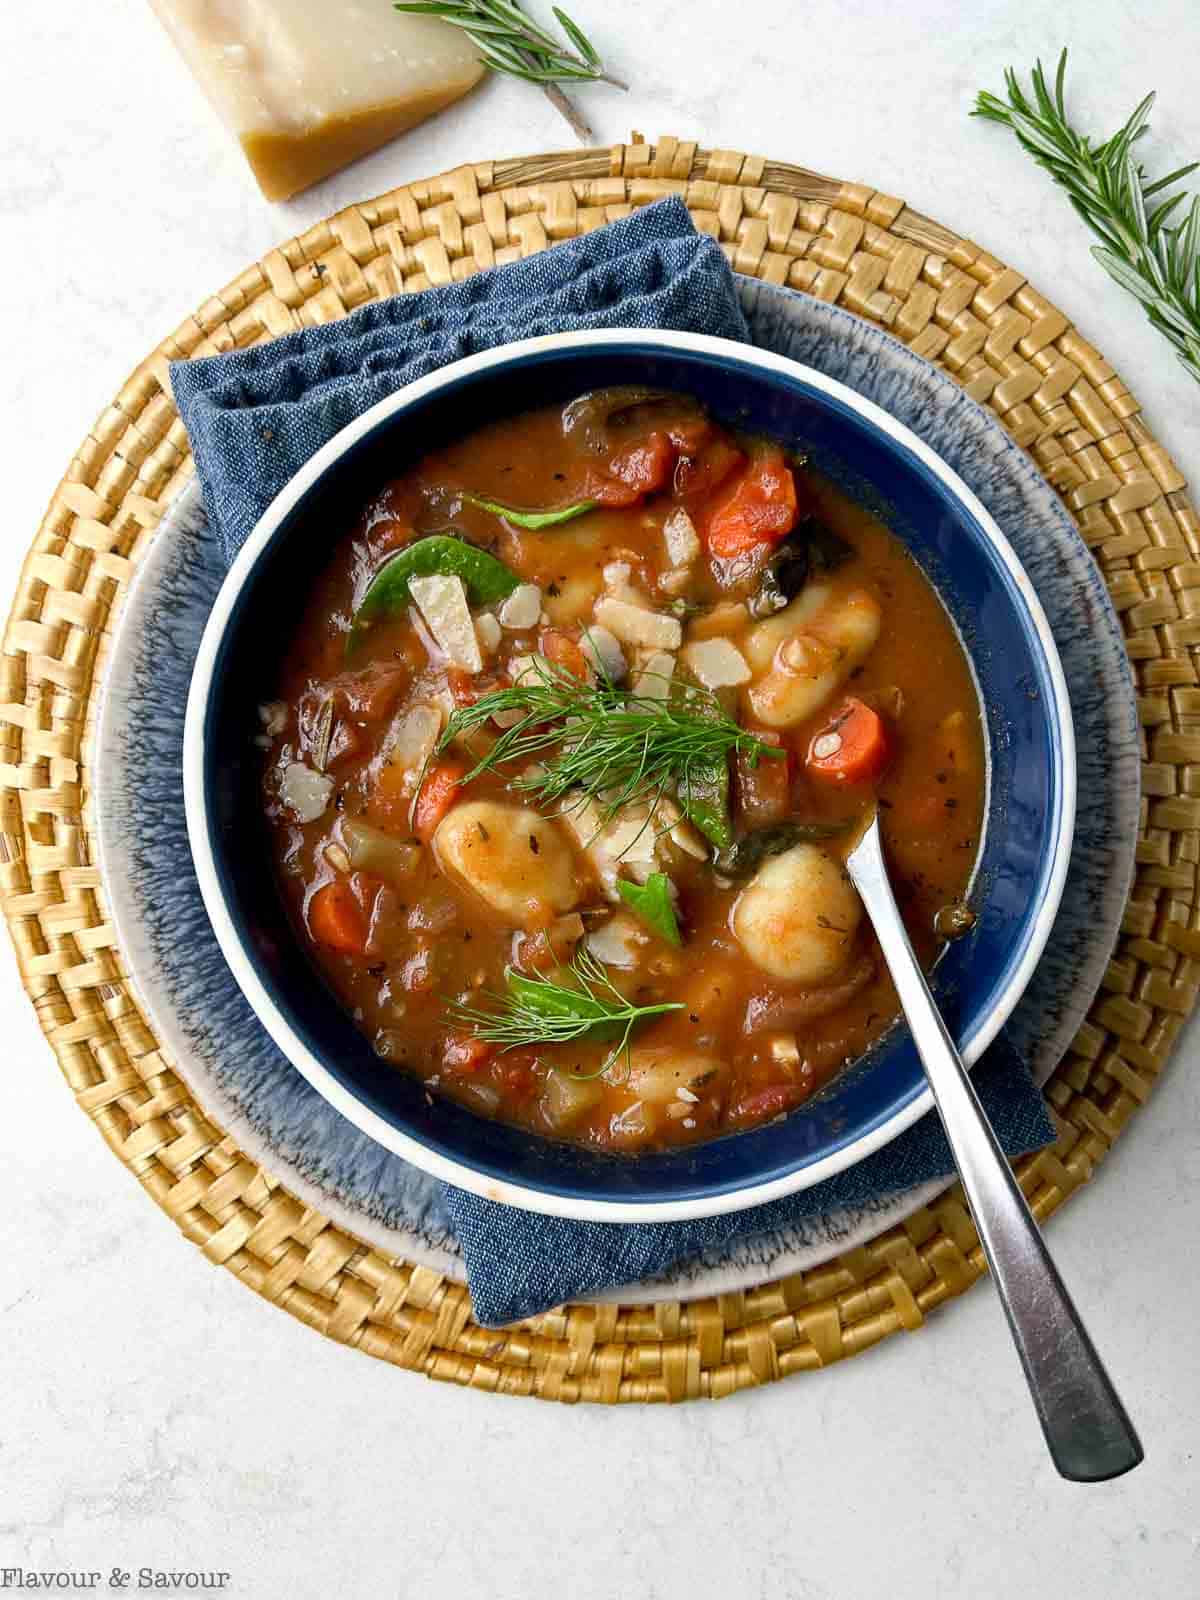
[[[794,1168],[792,1171],[765,1182],[726,1189],[720,1194],[698,1195],[680,1200],[610,1200],[586,1195],[544,1190],[526,1184],[502,1179],[491,1173],[480,1171],[467,1162],[458,1162],[430,1149],[414,1134],[405,1133],[365,1106],[333,1072],[315,1056],[307,1045],[291,1029],[288,1019],[277,1006],[259,978],[258,968],[246,950],[243,939],[229,915],[226,899],[221,891],[219,872],[211,843],[206,768],[206,717],[213,691],[213,672],[219,658],[226,627],[234,614],[238,595],[248,581],[259,557],[274,539],[280,523],[304,499],[314,485],[333,467],[347,450],[360,438],[376,429],[398,411],[426,400],[438,390],[453,387],[456,382],[485,373],[491,368],[502,368],[525,358],[536,358],[544,354],[563,354],[570,350],[594,352],[608,346],[629,346],[630,342],[651,346],[661,350],[682,354],[706,354],[714,360],[742,363],[760,371],[776,373],[790,381],[800,379],[830,400],[858,413],[867,424],[885,434],[901,451],[915,458],[939,483],[958,501],[968,515],[976,522],[992,550],[1006,570],[1014,592],[1024,606],[1027,621],[1042,648],[1046,675],[1053,690],[1054,715],[1059,725],[1059,739],[1051,741],[1056,757],[1058,778],[1058,816],[1051,843],[1050,874],[1045,880],[1045,893],[1034,915],[1026,949],[1019,962],[1008,976],[1008,981],[987,1013],[979,1019],[978,1029],[963,1048],[968,1066],[982,1056],[995,1040],[1003,1024],[1013,1013],[1024,992],[1037,962],[1042,957],[1050,930],[1058,915],[1062,890],[1070,864],[1070,846],[1075,832],[1075,733],[1070,712],[1070,698],[1059,661],[1050,621],[1042,602],[1037,597],[1032,581],[1021,565],[1016,552],[966,483],[906,424],[896,421],[854,389],[827,378],[824,373],[806,366],[789,357],[776,355],[771,350],[758,349],[752,344],[739,344],[731,339],[718,339],[710,334],[669,331],[654,328],[605,328],[586,333],[552,333],[531,339],[518,339],[510,344],[483,350],[477,355],[464,357],[446,366],[419,378],[398,389],[395,394],[376,402],[362,416],[347,422],[333,435],[278,491],[251,530],[246,542],[238,550],[229,573],[218,592],[213,610],[205,624],[200,650],[197,653],[192,682],[187,694],[187,712],[184,720],[184,810],[187,818],[187,834],[192,846],[192,859],[200,883],[205,910],[213,923],[221,952],[229,968],[250,1002],[259,1022],[266,1027],[280,1051],[291,1066],[301,1072],[322,1098],[341,1112],[362,1133],[374,1139],[384,1149],[422,1168],[434,1178],[466,1189],[485,1200],[510,1205],[544,1216],[568,1218],[573,1221],[597,1222],[674,1222],[690,1221],[706,1216],[723,1216],[733,1211],[749,1210],[770,1200],[779,1200],[797,1194],[832,1178],[837,1173],[854,1166],[867,1155],[896,1139],[906,1128],[910,1128],[920,1117],[933,1109],[933,1093],[925,1083],[907,1106],[902,1106],[891,1117],[874,1130],[864,1133],[832,1154]]]

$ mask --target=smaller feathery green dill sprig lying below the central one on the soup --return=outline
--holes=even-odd
[[[504,994],[490,990],[483,995],[491,1002],[490,1006],[456,1003],[450,1006],[450,1016],[470,1027],[477,1038],[499,1045],[502,1051],[616,1035],[613,1050],[595,1072],[573,1074],[600,1077],[614,1061],[629,1061],[629,1042],[638,1022],[683,1010],[680,1000],[634,1005],[586,949],[576,954],[566,974],[570,982],[555,982],[552,978],[526,978],[506,966]]]

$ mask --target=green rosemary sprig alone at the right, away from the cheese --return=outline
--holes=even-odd
[[[982,91],[971,115],[1011,128],[1038,166],[1067,190],[1070,203],[1101,240],[1091,250],[1096,261],[1141,301],[1154,326],[1166,334],[1187,371],[1200,381],[1200,195],[1192,197],[1182,218],[1171,226],[1168,221],[1187,198],[1186,192],[1179,189],[1157,198],[1194,173],[1200,162],[1147,182],[1133,146],[1149,128],[1154,94],[1146,96],[1110,139],[1093,147],[1067,120],[1066,72],[1064,50],[1051,96],[1038,61],[1030,102],[1010,67],[1005,74],[1008,99]]]

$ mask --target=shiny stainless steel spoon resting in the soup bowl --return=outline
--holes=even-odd
[[[1141,1442],[933,1003],[891,893],[878,818],[846,867],[925,1064],[1054,1466],[1077,1483],[1120,1477],[1142,1459]]]

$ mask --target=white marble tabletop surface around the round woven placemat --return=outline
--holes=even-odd
[[[1048,181],[971,123],[976,86],[1070,43],[1107,131],[1160,90],[1149,155],[1200,154],[1194,0],[573,0],[629,96],[603,141],[690,134],[875,184],[1019,264],[1115,360],[1200,480],[1200,406]],[[754,21],[754,37],[733,38]],[[0,59],[0,589],[133,362],[282,235],[485,155],[563,147],[490,83],[267,206],[139,0],[37,5]],[[720,1406],[563,1411],[422,1382],[208,1267],[75,1110],[0,957],[0,1566],[226,1570],[227,1594],[576,1600],[1200,1594],[1194,1261],[1200,1035],[1051,1243],[1146,1466],[1061,1483],[989,1288],[917,1338]],[[0,1578],[2,1582],[2,1578]]]

